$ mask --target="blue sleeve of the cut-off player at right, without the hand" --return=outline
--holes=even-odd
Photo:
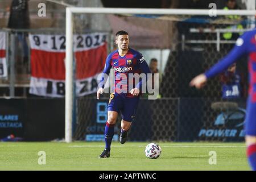
[[[224,58],[218,61],[218,63],[213,65],[213,67],[210,68],[207,72],[205,72],[205,76],[207,78],[211,78],[216,76],[218,73],[221,73],[226,69],[228,69],[230,65],[236,62],[242,55],[247,53],[249,39],[250,39],[250,32],[246,32],[245,34],[240,36],[240,38],[238,38],[236,41],[236,45],[228,53],[228,55],[226,55]]]

